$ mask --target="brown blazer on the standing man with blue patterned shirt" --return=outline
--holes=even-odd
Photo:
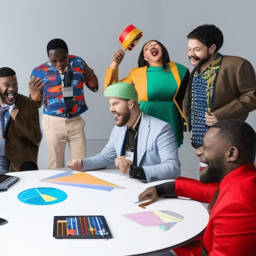
[[[183,100],[187,113],[188,85]],[[214,87],[211,112],[217,120],[245,120],[256,109],[256,77],[251,63],[237,56],[223,56]]]

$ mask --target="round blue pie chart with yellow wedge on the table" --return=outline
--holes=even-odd
[[[64,191],[53,187],[35,187],[26,189],[17,195],[21,202],[35,205],[47,205],[66,199]]]

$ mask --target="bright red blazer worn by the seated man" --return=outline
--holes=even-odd
[[[211,201],[216,187],[217,183],[203,184],[194,179],[180,177],[175,180],[176,195],[202,202]],[[255,195],[256,169],[253,163],[232,170],[221,180],[203,235],[209,256],[256,255]]]

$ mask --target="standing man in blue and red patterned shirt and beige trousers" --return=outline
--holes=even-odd
[[[80,116],[87,105],[83,83],[96,92],[98,81],[85,61],[68,55],[66,43],[52,39],[47,44],[49,60],[32,70],[30,97],[43,104],[42,128],[48,144],[48,168],[64,167],[68,141],[70,158],[86,157],[84,120]]]

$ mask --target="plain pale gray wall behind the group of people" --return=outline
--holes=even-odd
[[[113,52],[120,47],[119,33],[130,23],[143,31],[138,45],[126,52],[119,77],[136,66],[140,48],[150,39],[160,40],[171,60],[191,69],[187,58],[186,34],[203,23],[214,23],[224,34],[222,54],[242,56],[256,66],[255,8],[251,0],[0,0],[0,66],[17,73],[19,92],[28,95],[33,67],[47,60],[46,44],[52,38],[66,41],[69,53],[81,56],[94,69],[99,90],[85,88],[89,110],[85,119],[87,152],[98,152],[109,137],[114,120],[103,97],[103,78]],[[41,115],[42,109],[40,109]],[[247,121],[256,128],[255,111]],[[179,149],[182,171],[198,169],[188,133]],[[66,150],[66,161],[68,150]],[[47,166],[47,145],[43,137],[39,168]]]

